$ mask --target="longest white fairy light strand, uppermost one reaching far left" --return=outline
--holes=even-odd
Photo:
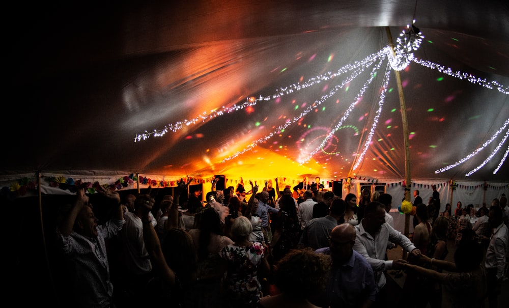
[[[383,55],[384,55],[384,49],[379,50],[376,53],[368,55],[366,58],[364,58],[360,62],[356,61],[353,64],[347,64],[347,65],[343,66],[342,68],[338,69],[336,73],[327,72],[322,75],[310,78],[306,82],[303,82],[303,83],[298,82],[298,83],[294,83],[293,85],[285,87],[285,88],[279,88],[279,90],[276,90],[277,92],[275,94],[272,94],[270,96],[263,97],[260,95],[260,97],[256,98],[256,99],[248,98],[246,102],[241,103],[241,104],[235,104],[232,107],[222,106],[221,110],[213,109],[210,111],[210,113],[203,111],[203,113],[201,115],[195,117],[192,120],[183,120],[183,121],[176,122],[174,124],[168,124],[163,129],[154,130],[152,132],[145,131],[142,134],[136,135],[136,137],[134,138],[134,142],[146,140],[150,136],[160,137],[160,136],[163,136],[168,131],[177,132],[178,130],[182,129],[184,126],[190,126],[190,125],[193,125],[193,124],[196,124],[199,122],[205,122],[205,121],[211,120],[215,117],[222,116],[224,114],[229,114],[234,111],[241,110],[246,107],[256,105],[258,102],[261,102],[261,101],[268,101],[271,99],[275,99],[275,98],[284,96],[285,94],[293,93],[294,91],[299,91],[299,90],[302,90],[305,88],[309,88],[309,87],[315,85],[315,83],[320,83],[322,81],[329,80],[331,78],[340,76],[346,72],[355,70],[359,67],[369,67],[376,61],[376,59],[382,57]]]

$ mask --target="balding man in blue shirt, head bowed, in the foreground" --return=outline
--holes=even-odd
[[[332,267],[325,294],[316,305],[320,307],[370,307],[375,301],[377,286],[373,269],[366,259],[353,250],[355,227],[342,223],[332,229],[330,246],[315,250],[330,255]]]

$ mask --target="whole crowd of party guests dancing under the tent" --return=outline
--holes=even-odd
[[[249,181],[221,190],[214,181],[202,202],[189,183],[160,201],[102,188],[94,202],[112,210],[101,225],[88,194],[76,192],[56,229],[68,306],[434,308],[445,292],[447,306],[482,307],[488,299],[497,307],[509,250],[505,195],[455,214],[450,205],[439,212],[433,197],[428,205],[416,198],[407,237],[394,229],[387,193],[365,189],[357,203],[319,181],[293,191],[277,178],[261,189]],[[468,217],[448,262],[451,228],[470,214],[477,220]],[[395,246],[408,257],[388,260]],[[406,272],[401,296],[388,294],[388,270]]]

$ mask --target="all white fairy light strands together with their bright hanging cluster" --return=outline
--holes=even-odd
[[[445,66],[439,65],[437,63],[433,63],[433,62],[428,61],[428,60],[421,60],[421,59],[415,58],[414,54],[413,54],[413,51],[417,50],[420,47],[420,44],[421,44],[422,39],[424,38],[424,36],[419,31],[419,29],[414,25],[414,23],[415,23],[415,20],[413,21],[412,25],[407,25],[407,30],[406,31],[405,30],[402,31],[402,33],[400,34],[400,37],[397,39],[397,46],[394,48],[395,49],[394,51],[392,51],[390,46],[385,46],[384,48],[382,48],[378,52],[368,55],[362,61],[355,62],[353,64],[348,64],[348,65],[338,69],[337,72],[335,72],[335,73],[327,72],[327,73],[324,73],[322,75],[310,78],[307,81],[298,82],[298,83],[294,83],[293,85],[290,85],[290,86],[287,86],[287,87],[284,87],[284,88],[279,88],[272,95],[260,96],[259,98],[249,97],[249,98],[246,99],[246,101],[244,101],[244,102],[242,102],[240,104],[235,104],[235,105],[230,106],[230,107],[222,106],[221,108],[212,109],[209,112],[203,111],[202,114],[197,115],[193,119],[190,119],[190,120],[185,119],[183,121],[178,121],[178,122],[175,122],[173,124],[167,124],[162,129],[154,129],[152,132],[145,131],[142,134],[137,134],[135,136],[135,138],[134,138],[134,142],[144,141],[144,140],[148,139],[151,136],[160,137],[160,136],[163,136],[167,132],[170,132],[170,131],[171,132],[177,132],[180,129],[182,129],[183,127],[191,126],[191,125],[194,125],[194,124],[197,124],[197,123],[200,123],[200,122],[203,123],[203,122],[212,120],[212,119],[214,119],[216,117],[222,116],[224,114],[233,113],[235,111],[239,111],[239,110],[242,110],[242,109],[254,106],[254,105],[256,105],[259,102],[274,100],[274,99],[277,99],[277,98],[279,98],[281,96],[284,96],[286,94],[294,93],[296,91],[300,91],[302,89],[306,89],[306,88],[312,87],[312,86],[317,85],[317,84],[319,84],[319,83],[321,83],[323,81],[327,81],[327,80],[330,80],[332,78],[336,78],[338,76],[341,76],[343,74],[351,72],[350,75],[347,78],[345,78],[340,84],[334,86],[332,88],[332,90],[330,90],[327,94],[322,95],[313,104],[310,104],[307,108],[305,108],[300,115],[298,115],[296,117],[293,117],[291,119],[286,119],[284,124],[281,124],[280,126],[275,128],[274,130],[272,130],[267,135],[257,139],[256,141],[251,142],[244,149],[242,149],[242,150],[240,150],[240,151],[230,155],[227,158],[224,158],[223,162],[226,162],[226,161],[234,159],[234,158],[238,157],[239,155],[241,155],[241,154],[243,154],[243,153],[253,149],[254,147],[257,147],[261,143],[266,142],[268,139],[270,139],[274,135],[280,133],[281,131],[284,131],[287,127],[289,127],[292,124],[300,121],[304,116],[306,116],[312,110],[316,109],[320,104],[322,104],[326,100],[328,100],[331,97],[333,97],[338,90],[340,90],[343,87],[345,87],[346,85],[348,85],[349,82],[351,82],[352,80],[357,78],[367,68],[370,68],[371,66],[374,65],[374,67],[373,67],[373,69],[371,71],[371,74],[370,74],[370,78],[364,82],[363,87],[359,90],[359,93],[357,94],[357,96],[354,99],[354,101],[345,110],[342,118],[338,121],[336,126],[333,129],[331,129],[331,131],[324,137],[322,142],[313,151],[310,151],[308,153],[304,153],[303,151],[305,149],[301,149],[301,152],[303,152],[303,153],[300,153],[300,156],[302,156],[302,157],[299,157],[297,159],[297,161],[299,163],[303,164],[303,163],[306,163],[307,161],[309,161],[310,159],[312,159],[313,156],[315,154],[317,154],[319,151],[323,150],[324,147],[326,146],[326,144],[329,142],[330,138],[332,138],[334,136],[334,133],[338,129],[340,129],[342,127],[343,122],[348,118],[348,116],[351,113],[351,111],[355,108],[357,103],[362,98],[362,95],[364,94],[366,89],[371,85],[373,79],[375,78],[378,70],[380,69],[380,67],[381,67],[381,65],[383,63],[383,60],[387,59],[387,67],[386,67],[386,71],[385,71],[385,74],[384,74],[384,79],[382,81],[381,91],[380,91],[380,94],[379,94],[378,109],[376,111],[376,115],[374,117],[370,133],[367,135],[366,141],[363,144],[363,149],[362,149],[361,153],[359,155],[357,155],[357,157],[355,159],[355,163],[354,163],[354,165],[352,167],[352,170],[356,170],[357,167],[362,162],[365,153],[369,149],[369,146],[370,146],[371,141],[372,141],[372,137],[373,137],[373,135],[374,135],[374,133],[376,131],[378,120],[379,120],[379,117],[380,117],[380,114],[381,114],[381,111],[382,111],[382,107],[383,107],[383,104],[384,104],[384,100],[385,100],[385,94],[387,92],[387,88],[388,88],[388,84],[389,84],[389,77],[390,77],[390,71],[391,71],[390,68],[392,68],[393,70],[403,70],[411,62],[414,62],[416,64],[422,65],[422,66],[427,67],[429,69],[437,70],[440,73],[449,75],[451,77],[455,77],[455,78],[458,78],[458,79],[461,79],[461,80],[465,79],[465,80],[468,80],[471,83],[474,83],[475,85],[479,85],[479,86],[485,87],[485,88],[490,89],[490,90],[496,89],[497,91],[499,91],[502,94],[506,94],[506,95],[509,94],[509,86],[503,86],[499,82],[497,82],[496,80],[488,81],[486,79],[475,77],[474,75],[469,74],[469,73],[463,73],[463,72],[460,72],[460,71],[454,71],[450,67],[445,67]],[[447,170],[449,170],[449,169],[451,169],[453,167],[456,167],[456,166],[464,163],[465,161],[467,161],[470,158],[472,158],[475,155],[477,155],[486,146],[488,146],[490,143],[492,143],[495,140],[495,138],[501,132],[504,131],[504,129],[507,127],[508,124],[509,124],[509,119],[507,121],[505,121],[505,123],[502,125],[502,127],[500,127],[495,132],[495,134],[493,134],[493,136],[487,142],[485,142],[483,144],[482,147],[479,147],[478,149],[476,149],[475,151],[473,151],[471,154],[467,155],[463,159],[461,159],[461,160],[459,160],[459,161],[457,161],[457,162],[455,162],[453,164],[450,164],[450,165],[448,165],[446,167],[443,167],[443,168],[441,168],[439,170],[436,170],[435,173],[438,174],[438,173],[447,171]],[[477,170],[482,168],[488,161],[490,161],[495,156],[495,154],[500,150],[500,148],[503,146],[503,144],[505,143],[508,135],[509,135],[509,130],[506,131],[504,137],[499,142],[499,144],[496,147],[496,149],[480,165],[478,165],[472,171],[467,173],[466,176],[470,176],[471,174],[475,173]],[[500,163],[498,164],[497,168],[493,171],[493,174],[496,174],[498,172],[500,167],[503,165],[505,159],[507,158],[508,153],[509,153],[509,147],[507,148],[507,151],[503,155],[503,157],[502,157]]]

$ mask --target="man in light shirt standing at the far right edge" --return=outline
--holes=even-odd
[[[500,206],[492,206],[488,217],[490,227],[493,228],[493,235],[486,251],[486,283],[489,307],[496,308],[497,297],[504,280],[505,262],[509,250],[509,232],[502,221]]]

